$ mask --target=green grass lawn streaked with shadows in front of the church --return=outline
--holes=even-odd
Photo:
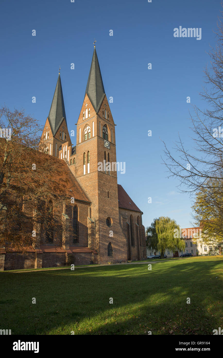
[[[141,263],[0,272],[0,329],[11,334],[213,334],[223,328],[222,256],[151,265],[151,271]]]

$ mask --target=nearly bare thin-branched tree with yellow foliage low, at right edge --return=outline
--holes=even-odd
[[[209,52],[210,68],[207,66],[204,71],[205,86],[200,93],[209,107],[202,111],[197,106],[193,106],[194,116],[190,115],[195,146],[193,149],[186,149],[179,136],[179,141],[175,142],[174,146],[178,154],[175,156],[164,143],[166,155],[164,163],[170,176],[178,178],[181,192],[190,193],[195,200],[193,209],[195,209],[196,226],[199,226],[200,220],[211,223],[206,226],[207,234],[210,236],[213,232],[217,236],[222,236],[220,223],[223,202],[218,199],[223,193],[223,24],[221,19],[215,33],[216,47],[211,48]]]

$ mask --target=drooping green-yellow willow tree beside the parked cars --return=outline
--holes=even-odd
[[[175,220],[160,216],[154,219],[151,226],[146,228],[146,247],[149,250],[159,251],[160,258],[164,258],[165,250],[184,250],[185,243],[180,237],[176,237],[176,230],[180,227]]]

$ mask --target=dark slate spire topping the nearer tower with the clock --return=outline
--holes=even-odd
[[[85,93],[87,93],[89,100],[97,113],[105,96],[105,88],[102,82],[95,46]]]

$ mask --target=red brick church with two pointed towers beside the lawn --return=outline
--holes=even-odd
[[[58,158],[61,172],[69,171],[70,181],[64,188],[67,200],[61,207],[61,240],[58,245],[39,230],[25,255],[1,249],[1,270],[146,258],[143,213],[117,184],[115,122],[95,46],[76,126],[77,144],[73,146],[59,73],[40,142],[45,144],[41,155]],[[102,170],[99,163],[103,163]],[[72,234],[66,232],[70,224]]]

